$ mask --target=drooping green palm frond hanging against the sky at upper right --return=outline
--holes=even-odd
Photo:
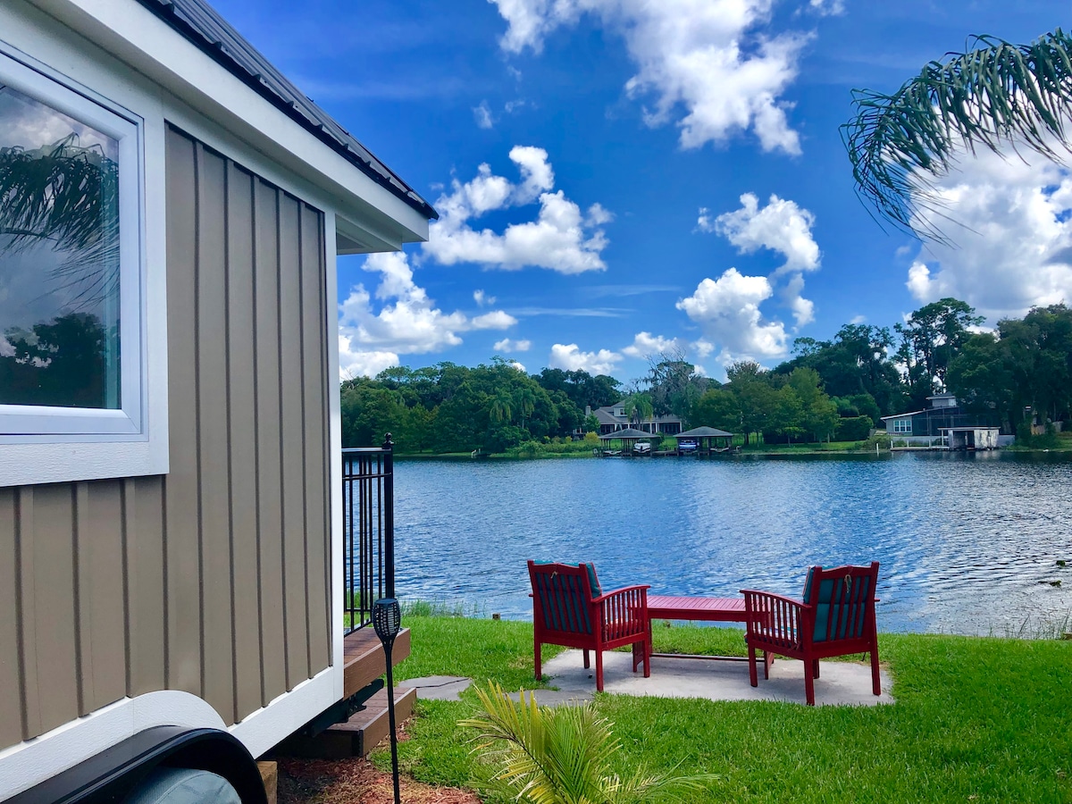
[[[988,35],[972,44],[891,95],[853,90],[857,116],[842,126],[857,193],[920,237],[946,239],[933,220],[942,214],[934,182],[962,150],[1024,148],[1055,161],[1070,150],[1072,38],[1058,28],[1028,45]]]

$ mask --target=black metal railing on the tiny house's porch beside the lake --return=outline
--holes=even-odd
[[[372,604],[394,597],[394,445],[342,450],[345,632],[372,622]]]

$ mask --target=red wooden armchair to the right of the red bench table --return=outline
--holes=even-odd
[[[768,592],[741,590],[748,625],[748,680],[758,686],[756,651],[763,651],[763,678],[771,678],[773,655],[804,661],[804,691],[815,705],[819,659],[869,653],[872,689],[881,695],[878,675],[878,632],[875,628],[875,586],[878,562],[869,567],[812,567],[804,600]]]

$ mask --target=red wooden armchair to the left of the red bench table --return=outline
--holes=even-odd
[[[596,689],[602,691],[602,652],[622,645],[640,645],[644,678],[652,674],[647,651],[649,586],[625,586],[604,593],[591,564],[537,564],[528,562],[533,584],[533,654],[536,678],[541,679],[540,645],[566,645],[596,652]],[[634,659],[632,671],[637,671]]]

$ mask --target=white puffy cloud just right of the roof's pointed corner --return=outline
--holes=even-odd
[[[473,180],[451,182],[450,194],[436,202],[441,217],[429,227],[425,254],[443,265],[476,263],[507,270],[533,266],[560,273],[604,270],[599,254],[607,237],[600,227],[611,220],[610,213],[599,204],[582,212],[562,190],[552,192],[554,172],[542,148],[516,146],[509,155],[520,182],[494,175],[487,164],[477,168]],[[510,224],[501,234],[471,224],[486,212],[537,202],[535,221]]]

